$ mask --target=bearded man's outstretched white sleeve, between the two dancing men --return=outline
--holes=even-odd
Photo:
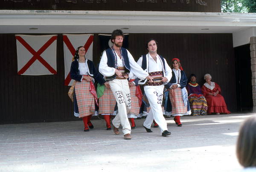
[[[131,55],[131,53],[127,50],[128,58],[129,58],[129,64],[131,68],[131,72],[134,73],[138,78],[145,79],[148,76],[148,73],[144,71],[139,64],[137,64]]]

